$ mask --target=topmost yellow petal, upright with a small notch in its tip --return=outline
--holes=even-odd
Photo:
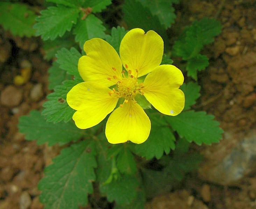
[[[151,72],[157,67],[163,57],[164,42],[155,31],[146,34],[142,29],[136,28],[126,33],[120,45],[120,57],[123,66],[128,66],[131,74],[138,77]]]

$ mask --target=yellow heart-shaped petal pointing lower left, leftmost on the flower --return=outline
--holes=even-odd
[[[67,93],[67,103],[76,111],[73,120],[79,129],[100,123],[116,106],[118,98],[109,96],[108,87],[94,82],[83,82]]]

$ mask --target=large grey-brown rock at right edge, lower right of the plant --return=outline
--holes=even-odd
[[[225,132],[224,139],[202,151],[199,176],[212,183],[236,185],[256,170],[256,129],[250,133]]]

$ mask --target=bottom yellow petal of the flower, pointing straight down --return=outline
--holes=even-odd
[[[147,140],[151,128],[150,120],[140,105],[129,101],[111,113],[106,124],[109,143],[132,141],[141,144]]]

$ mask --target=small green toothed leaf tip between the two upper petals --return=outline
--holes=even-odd
[[[128,31],[125,30],[125,28],[121,28],[120,26],[118,26],[117,28],[112,28],[111,30],[111,36],[110,35],[106,35],[106,41],[114,47],[115,51],[119,54],[119,48],[120,48],[120,44],[121,41],[123,39],[123,37],[125,36],[125,34]]]

